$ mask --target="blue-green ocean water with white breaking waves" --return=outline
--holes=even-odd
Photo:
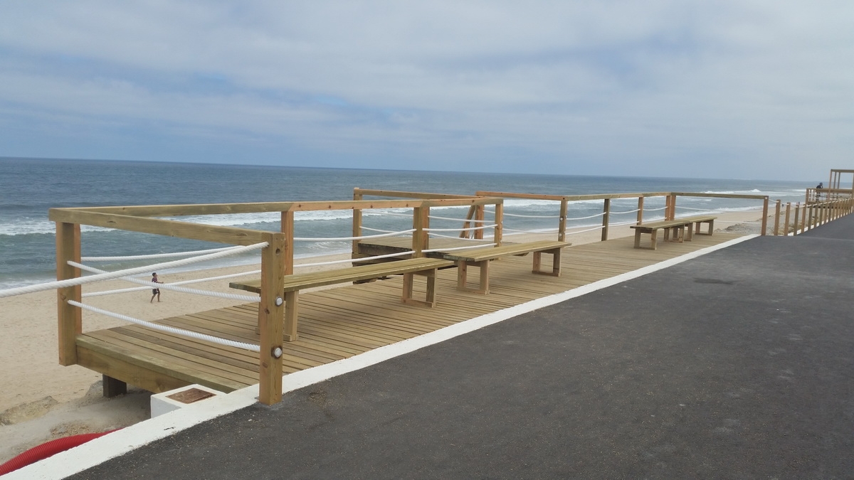
[[[734,173],[736,174],[736,173]],[[823,178],[824,173],[817,173]],[[436,193],[473,194],[493,190],[552,195],[585,195],[649,191],[689,191],[768,195],[772,200],[802,202],[804,182],[743,179],[674,179],[637,177],[594,177],[552,174],[413,172],[307,167],[255,167],[162,162],[43,160],[0,158],[0,289],[50,281],[56,278],[56,226],[48,220],[48,209],[109,205],[156,205],[176,203],[281,202],[351,200],[354,187]],[[553,230],[557,220],[532,218],[557,214],[555,202],[506,200],[506,229]],[[601,201],[572,202],[570,219],[601,212]],[[679,214],[738,211],[760,207],[757,201],[711,197],[680,197]],[[647,199],[645,208],[664,206],[663,198]],[[611,202],[611,223],[625,223],[635,214],[614,214],[636,208],[635,199]],[[431,214],[463,218],[466,208],[446,208]],[[660,212],[658,212],[660,214]],[[517,217],[514,215],[529,215]],[[652,220],[654,214],[645,217]],[[231,225],[278,231],[278,214],[213,215],[183,218],[213,225]],[[600,225],[600,218],[570,220],[570,226]],[[405,230],[407,217],[366,214],[364,224],[379,230]],[[459,221],[433,220],[436,228],[459,227]],[[146,255],[218,248],[203,243],[98,227],[82,228],[82,255]],[[509,232],[509,231],[508,231]],[[367,234],[367,232],[366,232]],[[348,212],[300,212],[296,214],[296,237],[348,237]],[[453,235],[453,233],[451,234]],[[346,241],[295,243],[296,255],[305,257],[348,252]],[[200,264],[202,267],[247,264],[258,255],[244,255]],[[162,260],[148,260],[162,261]],[[144,263],[122,261],[99,265],[117,270]]]

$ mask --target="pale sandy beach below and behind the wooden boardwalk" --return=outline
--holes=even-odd
[[[756,212],[720,214],[717,230],[758,233]],[[769,230],[773,222],[769,222]],[[611,227],[610,237],[632,235],[628,226]],[[553,237],[553,235],[551,236]],[[518,241],[519,237],[507,237]],[[567,238],[574,244],[600,240],[600,231],[588,231]],[[335,255],[348,258],[349,254]],[[304,263],[309,260],[302,260]],[[311,259],[317,261],[317,258]],[[347,264],[342,264],[347,265]],[[190,278],[248,272],[257,266],[235,266],[181,274],[161,274],[168,283]],[[317,268],[317,267],[314,267]],[[328,268],[328,267],[327,267]],[[85,285],[84,293],[132,286],[116,280]],[[190,285],[201,290],[234,293],[228,280]],[[208,296],[192,296],[161,290],[161,301],[149,302],[150,291],[141,290],[112,296],[95,296],[87,303],[124,313],[137,319],[162,319],[184,313],[226,307],[241,301]],[[0,299],[0,361],[3,362],[3,389],[0,389],[0,462],[27,448],[55,438],[79,433],[110,430],[149,418],[149,392],[129,385],[127,395],[102,397],[101,375],[80,366],[57,363],[56,290]],[[95,313],[84,313],[85,331],[124,325]]]

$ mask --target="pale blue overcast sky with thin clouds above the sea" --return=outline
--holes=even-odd
[[[0,155],[823,179],[854,1],[3,3]]]

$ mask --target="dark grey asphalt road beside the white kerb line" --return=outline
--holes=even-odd
[[[851,478],[852,278],[854,216],[757,237],[73,478]]]

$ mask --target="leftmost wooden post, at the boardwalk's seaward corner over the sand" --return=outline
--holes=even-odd
[[[68,260],[80,261],[80,225],[56,222],[56,279],[67,280],[80,276],[79,268],[69,266]],[[80,301],[80,285],[56,290],[56,320],[59,329],[59,364],[77,363],[77,336],[83,331],[83,314],[68,300]]]

